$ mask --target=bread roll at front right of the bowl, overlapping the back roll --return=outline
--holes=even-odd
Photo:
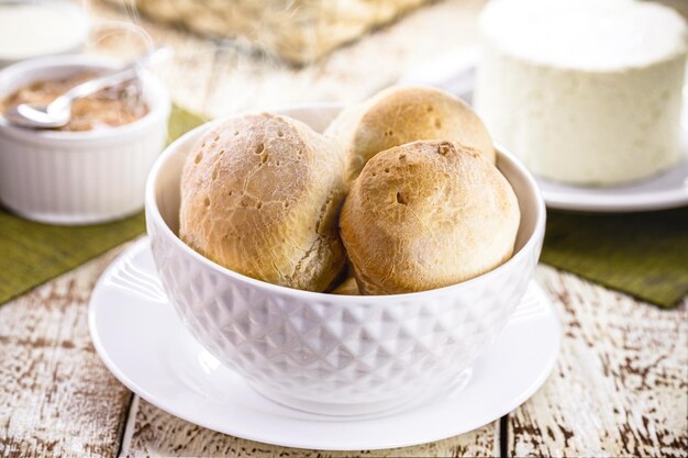
[[[340,228],[365,294],[457,283],[511,257],[519,204],[507,179],[458,143],[424,141],[373,157]]]

